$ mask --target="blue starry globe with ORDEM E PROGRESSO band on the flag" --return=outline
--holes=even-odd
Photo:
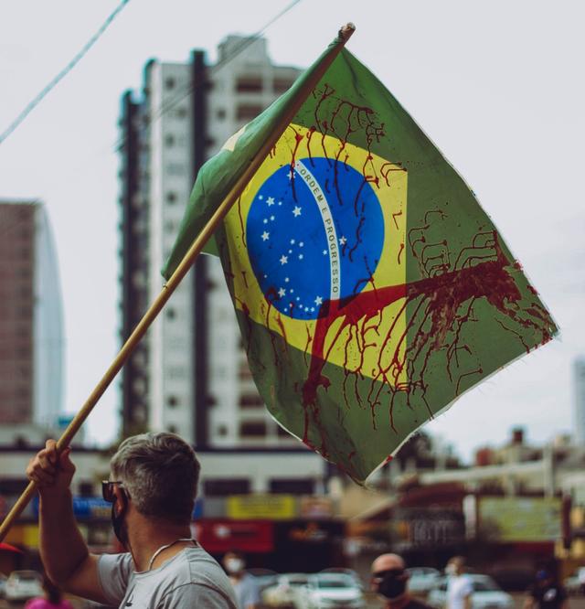
[[[327,303],[366,287],[384,245],[384,217],[361,172],[335,159],[303,158],[261,185],[246,239],[268,302],[283,315],[316,319]]]

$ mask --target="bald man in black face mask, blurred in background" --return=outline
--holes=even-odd
[[[431,609],[412,597],[408,589],[409,574],[398,554],[382,554],[372,562],[372,590],[383,597],[385,609]]]

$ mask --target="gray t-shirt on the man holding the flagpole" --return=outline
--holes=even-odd
[[[102,554],[98,561],[109,604],[133,609],[237,609],[223,569],[203,548],[186,548],[158,569],[135,572],[129,553]]]

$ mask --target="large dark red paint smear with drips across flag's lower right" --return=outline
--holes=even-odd
[[[323,307],[328,308],[328,315],[317,319],[308,376],[303,384],[305,423],[308,425],[310,421],[309,411],[313,418],[318,416],[317,390],[320,387],[327,390],[331,384],[330,379],[323,374],[324,364],[344,330],[348,329],[346,344],[338,347],[346,349],[345,364],[347,364],[347,348],[352,341],[356,340],[360,324],[363,343],[360,351],[363,353],[366,344],[363,340],[364,334],[372,329],[372,326],[367,326],[367,323],[375,317],[381,319],[383,309],[399,299],[405,299],[405,304],[388,330],[388,336],[384,338],[378,359],[379,372],[373,379],[367,396],[372,408],[373,423],[374,409],[380,404],[380,394],[384,387],[391,395],[388,415],[392,427],[394,424],[392,407],[397,393],[403,392],[407,398],[417,393],[426,403],[425,373],[432,353],[447,346],[448,368],[450,368],[452,358],[456,360],[458,357],[458,349],[470,351],[468,346],[459,345],[458,341],[463,325],[472,319],[473,302],[479,298],[485,299],[497,311],[516,324],[541,331],[543,342],[549,340],[550,319],[542,307],[538,305],[527,307],[525,313],[530,315],[527,318],[520,315],[518,303],[521,302],[522,295],[509,272],[512,265],[499,247],[495,232],[491,233],[490,244],[493,245],[493,251],[495,251],[493,254],[495,260],[479,262],[473,266],[463,261],[462,268],[458,270],[433,274],[413,283],[378,287],[376,290],[362,292],[351,298],[324,303]],[[468,248],[468,250],[472,249]],[[399,316],[409,303],[414,306],[414,311],[410,313],[408,325],[394,347],[390,363],[385,367],[382,365],[383,354],[389,345],[390,336]],[[458,315],[460,307],[465,303],[469,303],[466,313]],[[322,310],[327,309],[322,308]],[[338,323],[340,320],[341,324]],[[337,325],[335,337],[329,337],[330,347],[325,349],[325,339],[334,324]],[[519,333],[502,323],[501,325],[522,340]],[[454,340],[451,344],[448,343],[450,333],[454,333]],[[410,343],[405,347],[404,355],[401,357],[400,349],[403,344],[406,344],[407,335],[410,336]],[[363,365],[362,358],[361,367]],[[400,386],[399,377],[403,371],[406,371],[409,380]],[[448,371],[451,377],[451,369]],[[346,374],[349,373],[346,370]],[[481,366],[464,371],[459,375],[456,381],[456,393],[460,392],[463,380],[474,374],[483,374]],[[431,414],[431,407],[428,403],[427,408]],[[303,434],[305,438],[308,436],[308,431],[308,427],[305,426]],[[321,431],[323,434],[323,430]]]

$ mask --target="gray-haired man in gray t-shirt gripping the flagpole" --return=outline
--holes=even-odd
[[[40,555],[53,582],[111,606],[238,609],[225,572],[191,537],[200,466],[189,444],[175,433],[122,442],[102,494],[126,551],[101,556],[90,554],[75,523],[69,454],[48,440],[27,467],[40,496]]]

